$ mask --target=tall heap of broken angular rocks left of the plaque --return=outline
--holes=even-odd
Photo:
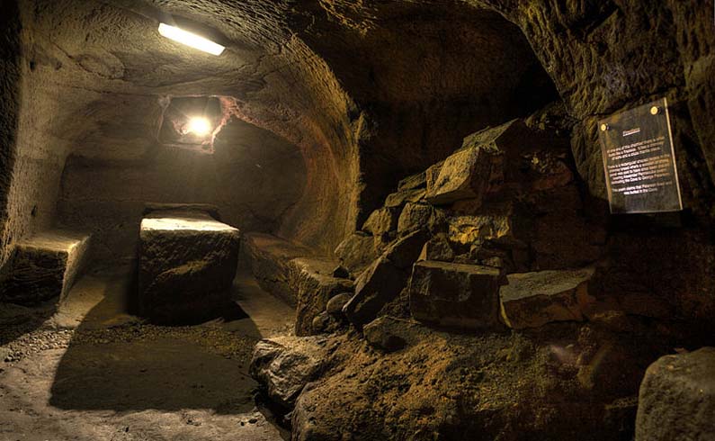
[[[606,233],[582,214],[568,157],[564,139],[514,120],[403,179],[335,249],[356,276],[347,319],[362,329],[407,288],[412,317],[442,327],[584,320]]]

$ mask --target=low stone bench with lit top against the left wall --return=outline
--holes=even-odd
[[[89,235],[62,229],[18,241],[4,276],[0,300],[23,305],[62,301],[85,262]]]

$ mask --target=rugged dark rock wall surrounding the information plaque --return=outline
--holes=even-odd
[[[596,121],[666,95],[674,104],[684,200],[707,215],[713,198],[711,0],[487,0],[516,23],[578,121],[572,148],[589,189],[604,198]],[[693,115],[693,116],[691,116]]]

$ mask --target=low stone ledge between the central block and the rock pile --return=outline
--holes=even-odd
[[[333,275],[337,260],[317,256],[308,247],[270,234],[248,233],[242,249],[258,284],[296,308],[298,336],[315,333],[312,321],[326,311],[332,297],[353,291],[352,281]]]

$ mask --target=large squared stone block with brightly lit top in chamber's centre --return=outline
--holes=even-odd
[[[230,302],[240,232],[206,211],[151,211],[139,230],[139,313],[154,323],[210,320]]]

